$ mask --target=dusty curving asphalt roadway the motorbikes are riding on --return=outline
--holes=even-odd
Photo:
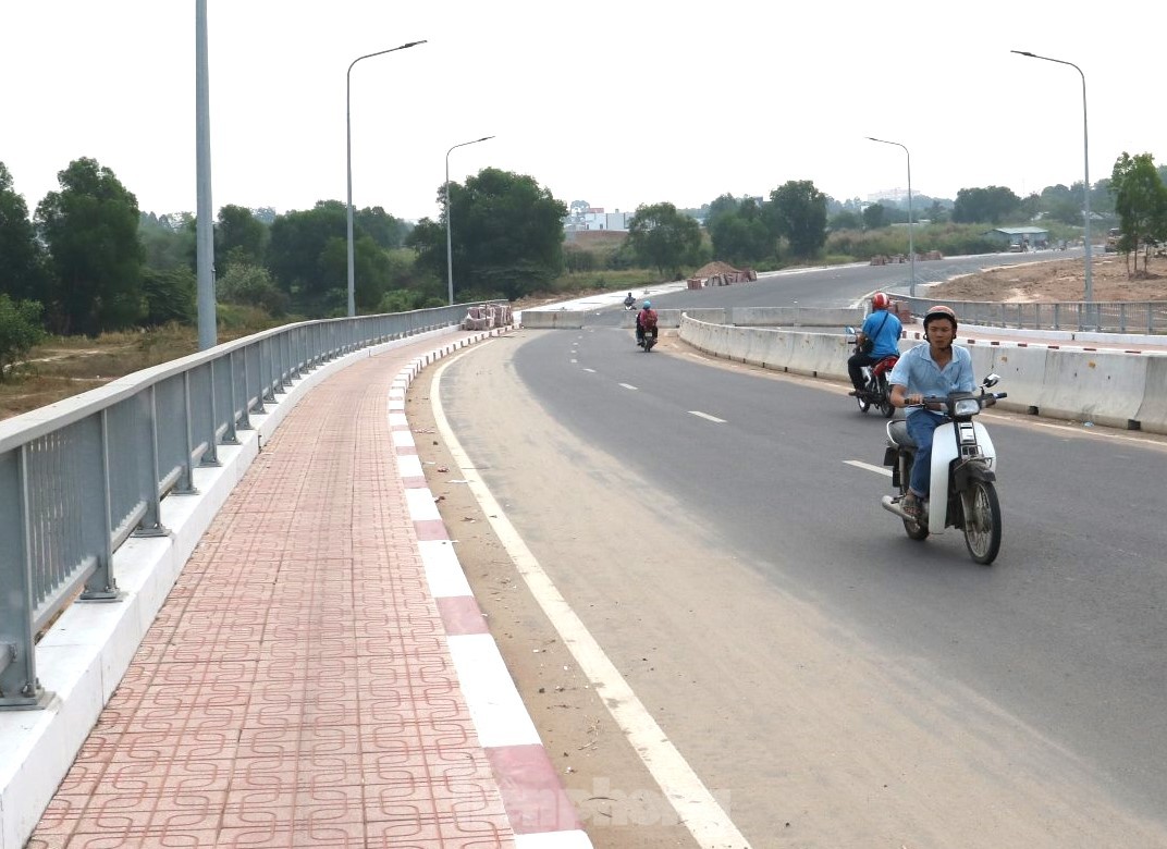
[[[879,285],[855,283],[865,292]],[[645,356],[628,331],[605,328],[526,331],[505,356],[494,355],[502,359],[489,370],[489,384],[481,371],[471,378],[478,355],[452,366],[447,405],[455,430],[480,457],[483,479],[502,493],[532,549],[559,561],[565,596],[585,611],[601,644],[617,655],[638,653],[631,634],[649,633],[662,652],[657,666],[680,671],[676,680],[645,678],[637,688],[668,706],[661,708],[664,728],[711,786],[734,786],[734,819],[746,834],[769,834],[775,812],[767,800],[775,794],[808,808],[826,805],[799,795],[808,791],[797,777],[774,774],[760,749],[782,741],[787,757],[824,770],[833,755],[805,738],[816,729],[838,734],[826,725],[838,722],[896,727],[888,736],[911,750],[922,776],[959,787],[969,807],[949,800],[936,821],[911,795],[901,800],[902,811],[881,808],[874,819],[886,816],[895,827],[923,818],[896,832],[897,840],[952,844],[942,822],[974,822],[980,808],[1000,804],[1020,820],[994,846],[1075,844],[1041,830],[1054,826],[1034,825],[1043,819],[1091,840],[1167,844],[1158,842],[1167,841],[1161,441],[986,414],[1000,456],[1005,541],[997,564],[985,568],[966,556],[957,534],[914,542],[880,508],[888,478],[852,462],[881,463],[883,423],[860,415],[844,387],[712,366],[677,346],[662,348]],[[522,433],[505,444],[503,419],[483,436],[487,385],[499,406],[510,398],[512,409],[524,411]],[[552,431],[558,435],[545,440]],[[543,449],[547,455],[539,459]],[[555,472],[561,501],[525,487],[539,470],[516,464],[524,451],[547,471],[564,464]],[[565,515],[595,512],[603,499],[615,503],[614,487],[629,526],[613,527],[610,518],[600,526],[574,524],[565,543]],[[631,540],[642,529],[682,567],[675,578],[659,563],[633,570],[652,584],[638,581],[634,589],[627,563],[600,568],[598,553],[631,547],[613,548],[612,536]],[[694,561],[707,571],[693,571]],[[684,589],[691,571],[706,589]],[[671,580],[676,587],[665,591]],[[663,602],[657,609],[658,596],[708,617],[700,641],[689,631],[692,623],[676,620]],[[637,612],[628,609],[634,604]],[[780,619],[789,626],[778,627]],[[819,641],[808,637],[791,652],[818,657],[820,667],[832,668],[830,682],[796,687],[791,659],[770,652],[801,633],[802,625],[790,623],[811,620],[819,624],[806,625],[806,633]],[[768,657],[773,668],[759,664]],[[860,657],[874,660],[866,666]],[[757,688],[742,689],[742,680]],[[733,694],[733,707],[698,695],[706,688]],[[776,701],[783,688],[801,693],[799,700]],[[801,715],[798,702],[815,709]],[[806,734],[785,736],[788,725],[767,710],[775,704],[784,704],[785,718]],[[904,716],[915,721],[897,727]],[[914,743],[915,735],[924,742]],[[860,750],[882,750],[873,742],[848,750],[855,774],[874,772],[861,769],[867,756]],[[885,764],[888,756],[869,758]],[[818,777],[836,806],[832,818],[818,821],[819,836],[827,822],[845,823],[859,804],[846,806],[843,785],[832,784],[840,780]],[[995,785],[1008,801],[993,795]],[[1065,812],[1051,812],[1055,798]],[[1071,826],[1075,816],[1084,822]],[[1019,821],[1036,830],[1027,833]],[[854,827],[838,828],[840,840],[854,837]]]

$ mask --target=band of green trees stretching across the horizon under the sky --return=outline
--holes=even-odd
[[[1119,222],[1121,250],[1167,239],[1165,171],[1149,154],[1124,153],[1111,177],[1091,187],[1092,211]],[[29,215],[0,162],[0,359],[14,346],[27,350],[37,332],[96,335],[194,323],[194,216],[144,213],[133,192],[92,159],[71,162],[58,182],[60,189]],[[962,189],[955,202],[920,196],[914,217],[994,226],[1041,217],[1081,226],[1081,183],[1047,187],[1026,198],[995,185]],[[446,302],[450,215],[456,301],[515,300],[586,265],[579,253],[565,252],[566,205],[527,175],[485,168],[464,184],[439,187],[438,199],[438,219],[415,225],[380,206],[355,210],[358,311]],[[789,181],[766,198],[722,195],[700,210],[666,202],[641,205],[610,261],[671,278],[711,257],[736,265],[805,262],[822,259],[829,236],[906,222],[900,204],[839,202],[811,181]],[[836,248],[840,245],[852,254],[865,250],[858,237],[837,239]],[[347,264],[341,201],[284,215],[223,206],[215,223],[219,321],[232,310],[277,320],[343,315]]]

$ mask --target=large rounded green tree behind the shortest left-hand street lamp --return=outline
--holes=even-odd
[[[445,192],[439,191],[445,205]],[[484,168],[464,187],[449,184],[449,206],[440,222],[418,222],[406,244],[424,273],[446,280],[446,222],[453,220],[455,301],[513,300],[562,272],[567,208],[533,177]]]

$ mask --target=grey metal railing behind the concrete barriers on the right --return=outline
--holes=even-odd
[[[1167,301],[1062,301],[1046,303],[929,300],[895,295],[914,315],[937,303],[956,310],[962,323],[1032,330],[1096,330],[1167,334]]]

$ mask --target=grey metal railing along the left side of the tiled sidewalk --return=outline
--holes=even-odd
[[[289,324],[0,421],[0,709],[36,708],[36,634],[74,601],[117,601],[113,554],[161,535],[251,416],[317,366],[459,324],[467,307]]]

